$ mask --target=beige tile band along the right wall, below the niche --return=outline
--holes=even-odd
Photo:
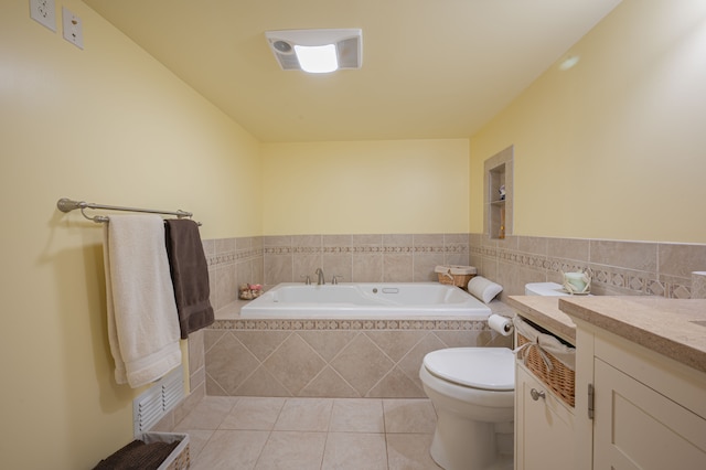
[[[527,282],[560,284],[563,271],[587,267],[599,295],[688,299],[702,281],[692,273],[706,270],[706,245],[471,234],[469,260],[504,287],[501,299],[523,295]]]

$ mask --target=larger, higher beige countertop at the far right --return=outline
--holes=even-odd
[[[559,310],[706,372],[706,300],[561,297]],[[531,318],[530,318],[531,319]]]

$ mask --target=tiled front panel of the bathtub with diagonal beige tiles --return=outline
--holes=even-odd
[[[204,337],[206,394],[421,398],[428,352],[510,345],[486,321],[216,320]]]

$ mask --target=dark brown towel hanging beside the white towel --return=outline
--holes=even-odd
[[[208,265],[203,253],[199,225],[186,218],[167,222],[167,254],[171,269],[181,338],[214,322],[208,297]]]

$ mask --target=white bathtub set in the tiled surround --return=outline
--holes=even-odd
[[[285,282],[240,309],[242,318],[258,319],[486,320],[489,316],[490,308],[470,293],[438,282]]]

